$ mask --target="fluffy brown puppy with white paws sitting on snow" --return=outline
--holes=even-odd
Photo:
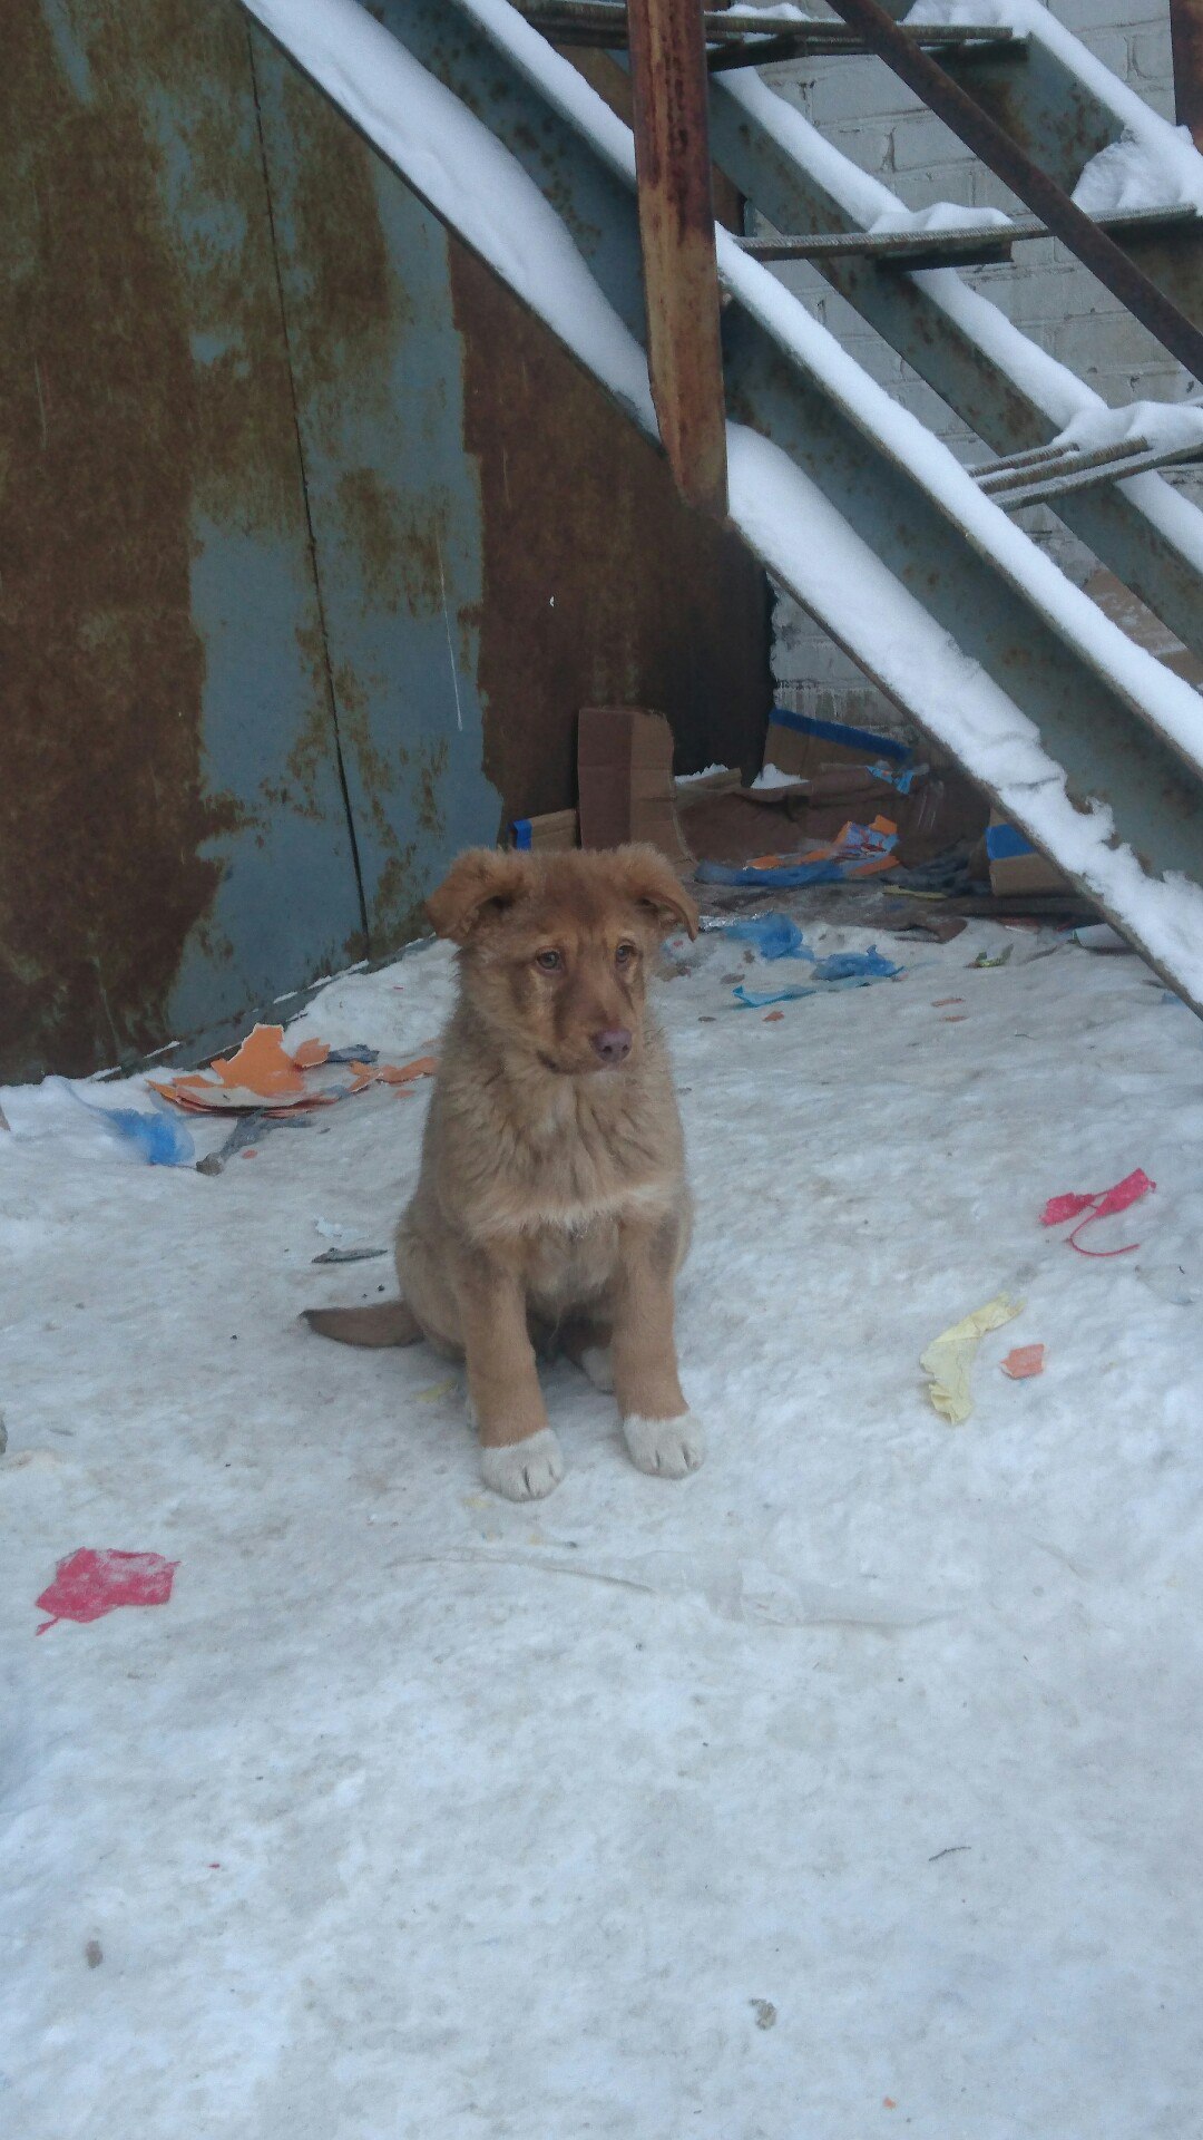
[[[465,1357],[484,1479],[512,1500],[563,1479],[535,1350],[612,1389],[631,1459],[681,1479],[704,1455],[672,1340],[691,1207],[646,982],[661,937],[696,935],[698,912],[655,847],[479,847],[428,914],[460,946],[460,997],[396,1235],[402,1301],[308,1323]]]

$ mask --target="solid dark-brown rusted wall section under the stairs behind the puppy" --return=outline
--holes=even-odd
[[[465,445],[479,462],[484,773],[505,815],[576,800],[576,715],[661,706],[679,768],[760,766],[768,588],[664,458],[458,242]]]

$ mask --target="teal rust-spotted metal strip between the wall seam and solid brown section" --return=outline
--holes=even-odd
[[[372,952],[497,837],[482,496],[447,233],[250,28],[321,621]]]

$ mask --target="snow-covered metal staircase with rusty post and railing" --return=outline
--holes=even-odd
[[[747,11],[638,0],[631,24],[651,6],[668,36],[651,73],[644,49],[642,81],[625,11],[602,0],[537,19],[507,0],[242,4],[659,432],[685,492],[726,511],[773,578],[1203,1010],[1203,700],[1006,516],[1047,503],[1203,648],[1203,514],[1156,473],[1197,445],[1139,426],[1094,447],[1062,437],[1098,396],[955,272],[1053,229],[1203,379],[1203,158],[1164,128],[1175,199],[1137,216],[1075,208],[1083,163],[1122,139],[1132,98],[1120,83],[1105,94],[1098,62],[1038,24],[1034,0],[978,0],[991,21],[901,28],[878,0],[833,0],[841,21],[771,30]],[[683,21],[700,105],[674,75]],[[878,51],[1030,218],[908,218],[760,81],[756,66],[783,45]],[[612,109],[623,96],[604,98],[574,66],[599,49],[619,86],[614,62],[634,62],[642,188]],[[711,156],[781,238],[715,227]],[[893,404],[773,276],[768,263],[792,257],[813,261],[998,458],[961,469]]]

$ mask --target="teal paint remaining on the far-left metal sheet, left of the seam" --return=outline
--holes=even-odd
[[[73,0],[98,24],[101,0]],[[54,13],[62,19],[62,6]],[[287,396],[287,353],[276,300],[270,199],[246,51],[238,54],[212,9],[205,49],[229,43],[229,71],[195,68],[163,79],[163,43],[126,83],[158,150],[165,229],[188,304],[197,368],[238,379],[263,353],[240,317],[240,276],[259,280],[261,332],[276,349],[283,496],[263,486],[246,511],[201,479],[191,501],[191,616],[203,646],[201,751],[214,796],[238,820],[205,841],[218,869],[208,914],[191,933],[167,999],[167,1025],[186,1034],[308,980],[315,969],[362,957],[364,914],[338,764],[338,734],[319,651],[319,608],[304,516],[302,467]],[[163,26],[167,28],[167,26]],[[229,96],[229,90],[235,94]],[[231,184],[231,171],[240,173]],[[242,203],[255,214],[250,238]],[[259,321],[257,321],[259,325]],[[289,434],[291,432],[291,434]],[[244,441],[248,443],[248,441]],[[289,899],[278,897],[280,884]]]

